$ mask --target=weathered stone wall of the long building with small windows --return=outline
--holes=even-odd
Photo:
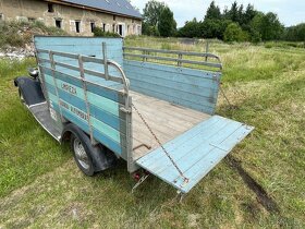
[[[0,0],[0,20],[42,21],[48,26],[56,26],[61,21],[61,28],[71,35],[91,36],[91,23],[107,32],[122,32],[123,36],[141,35],[141,20],[115,16],[108,13],[83,10],[53,3],[53,12],[48,12],[48,2],[41,0]],[[76,23],[81,22],[80,33]],[[59,24],[59,23],[58,23]]]

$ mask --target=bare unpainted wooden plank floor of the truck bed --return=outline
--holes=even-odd
[[[139,93],[130,92],[130,95],[134,106],[162,144],[210,118],[209,114]],[[148,149],[143,144],[151,148]],[[133,148],[136,148],[134,159],[145,156],[157,147],[159,147],[158,143],[133,109]]]

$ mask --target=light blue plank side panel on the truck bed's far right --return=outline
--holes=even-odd
[[[159,99],[215,113],[221,73],[124,60],[131,88]]]

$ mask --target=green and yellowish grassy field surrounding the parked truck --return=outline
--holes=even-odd
[[[130,38],[126,46],[203,51],[204,44]],[[266,207],[239,169],[222,161],[182,203],[150,178],[134,193],[126,165],[94,178],[78,171],[22,107],[12,80],[33,59],[0,60],[0,228],[304,228],[305,51],[225,45],[210,51],[224,63],[217,113],[256,130],[232,155],[278,205]]]

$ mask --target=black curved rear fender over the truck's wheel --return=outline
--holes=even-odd
[[[113,153],[101,145],[93,146],[88,135],[73,123],[64,126],[61,140],[70,140],[71,134],[75,134],[82,141],[85,150],[90,154],[96,172],[106,170],[115,164],[117,157]]]

